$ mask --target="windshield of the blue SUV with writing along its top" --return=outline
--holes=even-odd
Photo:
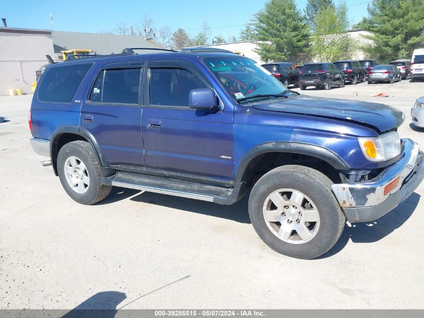
[[[286,87],[255,61],[243,57],[208,57],[206,65],[235,99],[281,94]]]

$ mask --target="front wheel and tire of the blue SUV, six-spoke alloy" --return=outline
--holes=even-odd
[[[345,215],[331,190],[331,185],[332,181],[328,177],[309,167],[287,165],[267,172],[256,182],[250,193],[249,217],[253,228],[266,245],[280,254],[300,259],[312,259],[323,255],[339,240],[346,223]],[[294,203],[290,201],[293,193],[296,193],[298,198],[294,201],[301,202],[300,205],[303,206],[300,211],[294,207],[295,205],[286,208],[289,206],[286,204]],[[271,199],[271,196],[278,200]],[[282,209],[279,209],[274,201]],[[308,205],[308,202],[312,202],[311,205]],[[295,202],[299,205],[298,203]],[[284,213],[280,214],[281,210]],[[302,216],[302,212],[305,216]],[[309,218],[308,221],[304,219],[306,216]],[[299,219],[291,221],[296,218]],[[281,231],[281,224],[288,228]],[[297,230],[291,230],[292,226],[300,228],[302,235]],[[281,238],[278,237],[279,234]]]

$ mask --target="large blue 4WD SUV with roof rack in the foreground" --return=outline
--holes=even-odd
[[[383,104],[288,90],[243,56],[164,49],[52,64],[29,112],[33,149],[76,202],[112,186],[219,204],[249,194],[259,237],[303,259],[419,185],[424,154],[399,139],[403,120]]]

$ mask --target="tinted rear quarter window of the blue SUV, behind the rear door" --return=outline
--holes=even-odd
[[[49,102],[71,102],[92,63],[60,65],[47,68],[38,89],[38,99]]]

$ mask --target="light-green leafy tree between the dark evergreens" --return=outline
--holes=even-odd
[[[346,4],[321,8],[315,18],[312,55],[321,62],[350,59],[357,49],[356,41],[346,32],[349,19]]]

